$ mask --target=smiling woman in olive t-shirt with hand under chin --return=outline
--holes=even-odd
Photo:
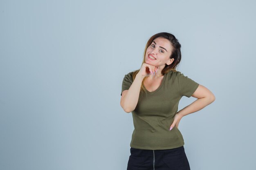
[[[124,76],[120,104],[134,124],[127,170],[190,170],[178,125],[215,96],[175,70],[180,48],[171,33],[157,33],[146,44],[141,68]],[[182,96],[198,99],[177,112]]]

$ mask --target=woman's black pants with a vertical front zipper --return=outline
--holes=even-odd
[[[190,170],[184,147],[165,150],[130,148],[127,170]]]

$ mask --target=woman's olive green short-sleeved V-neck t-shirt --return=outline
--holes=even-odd
[[[121,92],[128,90],[132,82],[130,72],[124,76]],[[163,150],[183,146],[180,130],[176,126],[170,130],[170,126],[182,96],[191,97],[198,86],[180,71],[169,71],[155,91],[140,92],[138,104],[132,111],[134,130],[130,147]]]

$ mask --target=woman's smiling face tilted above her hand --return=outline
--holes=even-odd
[[[155,59],[149,57],[151,55]],[[158,37],[148,46],[145,61],[153,66],[165,66],[171,64],[174,59],[171,56],[171,42],[165,38]]]

